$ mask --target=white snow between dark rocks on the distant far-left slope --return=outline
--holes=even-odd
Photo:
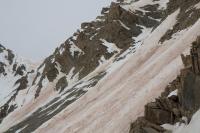
[[[31,71],[37,67],[37,64],[32,63],[31,61],[24,59],[22,57],[18,57],[15,55],[13,59],[13,63],[10,64],[8,61],[8,51],[5,49],[2,53],[0,53],[0,63],[4,63],[6,65],[5,73],[0,75],[0,106],[5,104],[7,100],[10,98],[10,96],[13,95],[13,93],[16,91],[15,88],[17,88],[19,85],[16,84],[16,81],[20,79],[21,75],[15,75],[15,72],[13,71],[13,65],[14,63],[19,63],[18,65],[24,65],[26,67],[26,71]],[[33,80],[33,79],[30,79]]]

